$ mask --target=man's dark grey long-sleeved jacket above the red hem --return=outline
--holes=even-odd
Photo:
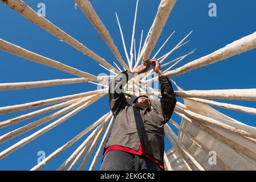
[[[172,116],[177,102],[172,84],[166,76],[160,76],[161,104],[154,109],[143,110],[128,104],[123,93],[122,86],[132,77],[131,72],[121,72],[109,84],[109,105],[116,121],[105,149],[120,145],[139,150],[144,138],[145,153],[164,165],[164,124]]]

